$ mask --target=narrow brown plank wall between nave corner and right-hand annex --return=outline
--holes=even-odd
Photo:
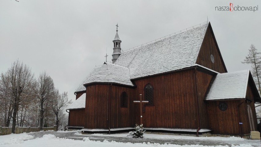
[[[197,94],[199,103],[200,128],[209,128],[207,103],[204,102],[206,92],[212,80],[212,75],[196,71]]]

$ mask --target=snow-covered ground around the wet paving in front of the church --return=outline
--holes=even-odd
[[[151,147],[151,146],[156,146],[156,147],[253,147],[253,146],[259,146],[260,147],[260,140],[248,140],[248,139],[243,139],[240,137],[193,137],[193,136],[180,136],[180,135],[163,135],[163,134],[149,134],[146,133],[144,134],[144,139],[141,143],[130,143],[130,142],[116,142],[117,137],[126,137],[128,134],[127,133],[120,133],[120,134],[81,134],[78,131],[48,131],[48,132],[37,132],[38,136],[39,134],[42,134],[43,136],[41,137],[35,137],[35,133],[21,133],[21,134],[9,134],[9,135],[2,135],[0,136],[0,146],[5,147],[66,147],[66,146],[77,146],[77,147],[90,147],[90,146],[95,146],[95,147],[101,147],[101,146],[108,146],[108,147],[122,147],[122,146],[127,146],[127,147]],[[74,140],[74,139],[68,139],[68,138],[59,138],[56,137],[56,135],[62,136],[64,135],[75,135],[75,136],[81,136],[80,140]],[[101,141],[93,141],[90,140],[91,137],[112,137],[116,141],[107,141],[101,140]],[[130,137],[127,137],[130,139]],[[159,140],[184,140],[187,142],[187,144],[184,145],[177,145],[175,143],[169,144],[169,143],[150,143],[147,142],[149,139],[157,139]],[[135,139],[133,139],[135,140]],[[231,142],[230,145],[199,145],[199,144],[191,144],[191,141],[212,141],[212,142]],[[252,143],[254,141],[254,143]],[[233,142],[242,142],[242,144],[238,145],[233,145]],[[251,143],[250,143],[251,142]]]

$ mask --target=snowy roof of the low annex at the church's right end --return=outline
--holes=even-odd
[[[210,83],[205,100],[244,99],[248,77],[249,69],[217,74]]]

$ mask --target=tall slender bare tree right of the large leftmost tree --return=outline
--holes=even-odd
[[[40,101],[40,130],[43,130],[44,122],[44,103],[47,103],[54,92],[53,79],[46,73],[42,72],[37,81],[36,97]]]

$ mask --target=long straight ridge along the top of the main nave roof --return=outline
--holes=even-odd
[[[200,23],[200,24],[193,25],[193,26],[191,26],[191,27],[189,27],[189,28],[182,29],[182,30],[177,31],[177,32],[174,32],[174,33],[172,33],[172,34],[169,34],[169,35],[166,35],[166,36],[160,37],[160,38],[155,39],[155,40],[153,40],[153,41],[149,41],[149,42],[147,42],[147,43],[144,43],[144,44],[141,44],[141,45],[135,46],[135,47],[133,47],[133,48],[129,48],[129,49],[127,49],[127,50],[122,50],[122,53],[124,53],[124,52],[129,52],[129,51],[134,50],[134,49],[136,49],[136,48],[138,48],[138,47],[141,47],[141,46],[143,46],[143,45],[151,44],[151,43],[154,43],[154,42],[157,42],[157,41],[163,40],[163,39],[165,39],[165,38],[168,38],[168,37],[172,37],[172,36],[178,35],[178,34],[180,34],[180,33],[186,32],[186,31],[191,30],[191,29],[198,28],[198,27],[200,27],[201,25],[206,25],[208,22],[210,22],[210,21],[205,21],[205,22],[202,22],[202,23]]]

